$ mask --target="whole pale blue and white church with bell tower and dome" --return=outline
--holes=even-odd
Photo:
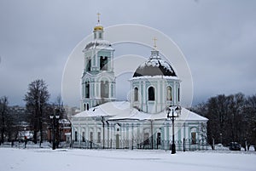
[[[148,60],[127,80],[131,100],[119,101],[114,48],[104,40],[99,20],[93,34],[83,50],[81,112],[71,119],[73,147],[169,150],[174,134],[177,150],[206,148],[207,118],[180,106],[181,80],[159,51],[148,52]],[[173,125],[166,109],[175,116]]]

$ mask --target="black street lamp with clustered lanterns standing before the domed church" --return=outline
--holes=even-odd
[[[171,111],[172,111],[172,115],[170,116]],[[175,146],[175,143],[174,143],[174,120],[175,120],[176,117],[178,117],[180,111],[181,111],[180,106],[166,107],[167,119],[171,118],[171,120],[172,120],[172,146],[171,146],[172,154],[176,153],[176,146]]]

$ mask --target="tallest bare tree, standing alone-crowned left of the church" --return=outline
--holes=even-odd
[[[28,121],[33,128],[33,141],[37,143],[38,131],[40,132],[40,145],[43,141],[44,110],[49,100],[47,85],[42,79],[33,81],[28,85],[28,92],[25,95]]]

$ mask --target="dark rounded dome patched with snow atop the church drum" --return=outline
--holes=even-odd
[[[168,64],[165,60],[160,58],[150,58],[142,65],[137,67],[137,70],[133,74],[133,77],[143,77],[143,76],[172,76],[177,77],[172,66]]]

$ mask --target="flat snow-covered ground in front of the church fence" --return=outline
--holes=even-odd
[[[256,170],[254,151],[125,151],[0,148],[0,171]]]

